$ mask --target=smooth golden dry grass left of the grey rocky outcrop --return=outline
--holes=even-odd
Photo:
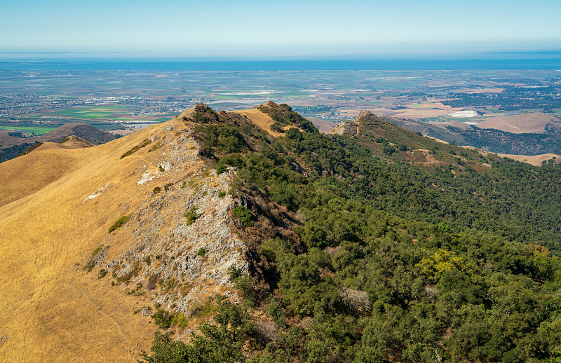
[[[107,288],[81,265],[107,244],[108,226],[142,200],[127,178],[138,162],[116,163],[116,153],[146,136],[35,151],[0,164],[8,192],[0,207],[0,334],[7,336],[0,350],[7,362],[130,362],[145,346],[148,321],[131,313],[138,299]],[[82,203],[108,183],[114,188],[103,198]]]

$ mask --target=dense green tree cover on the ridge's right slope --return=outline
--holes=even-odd
[[[306,130],[286,105],[265,111]],[[483,158],[379,118],[352,138],[197,119],[210,162],[238,168],[231,193],[294,212],[300,242],[259,245],[262,276],[231,266],[243,303],[217,296],[214,322],[189,343],[165,325],[144,362],[561,361],[553,160]],[[416,163],[419,149],[435,163]]]

